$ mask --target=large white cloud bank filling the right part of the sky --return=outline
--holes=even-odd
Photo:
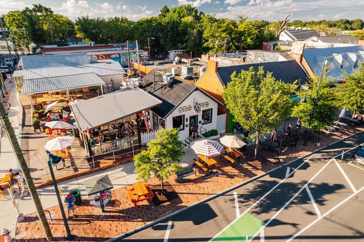
[[[363,18],[364,1],[362,0],[250,0],[245,5],[234,5],[241,0],[225,0],[229,3],[225,12],[215,13],[219,18],[236,19],[247,15],[250,19],[277,21],[283,19],[289,12],[292,20],[321,20],[339,18]],[[338,11],[340,10],[340,11]],[[310,17],[308,17],[310,15]]]

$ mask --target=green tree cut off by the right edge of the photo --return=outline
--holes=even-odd
[[[344,74],[344,83],[336,85],[338,106],[346,106],[352,111],[363,110],[364,108],[364,62],[359,70]]]

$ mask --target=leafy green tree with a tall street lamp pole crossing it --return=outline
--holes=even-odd
[[[323,77],[318,89],[317,101],[313,110],[312,122],[310,129],[319,130],[335,120],[336,111],[336,94],[331,88],[333,80],[329,77]],[[293,109],[293,117],[301,117],[302,125],[308,127],[312,112],[313,100],[316,95],[318,77],[310,78],[307,85],[307,91],[300,90],[297,95],[305,97],[306,102],[299,102]]]

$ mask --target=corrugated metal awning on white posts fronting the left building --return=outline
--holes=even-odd
[[[23,94],[59,91],[88,86],[104,85],[95,73],[28,79],[23,82]]]

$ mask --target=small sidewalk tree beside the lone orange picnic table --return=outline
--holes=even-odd
[[[157,139],[151,140],[147,150],[134,156],[135,173],[138,180],[146,180],[152,175],[161,181],[160,195],[165,195],[163,181],[171,176],[171,172],[182,170],[181,160],[185,152],[182,150],[182,141],[178,140],[177,129],[162,129],[156,134]]]

